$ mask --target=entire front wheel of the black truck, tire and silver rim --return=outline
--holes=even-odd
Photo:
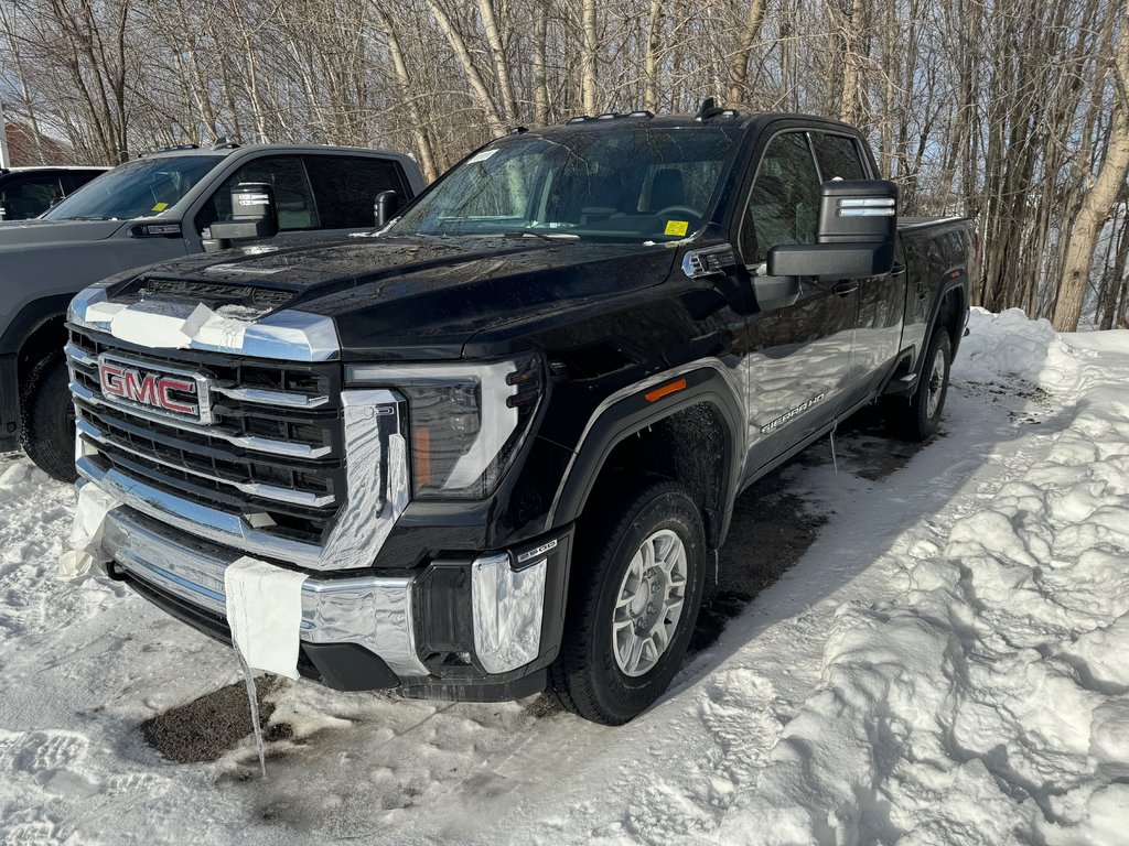
[[[662,695],[685,654],[706,537],[697,505],[673,482],[616,487],[588,513],[550,693],[586,720],[619,725]]]

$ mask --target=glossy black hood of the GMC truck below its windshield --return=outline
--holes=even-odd
[[[347,356],[411,359],[457,355],[478,333],[658,284],[675,252],[540,238],[283,239],[146,276],[208,283],[201,292],[271,291],[280,308],[332,317]],[[192,296],[193,285],[181,290]]]

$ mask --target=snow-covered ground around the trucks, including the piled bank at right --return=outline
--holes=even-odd
[[[146,743],[234,654],[56,580],[73,494],[0,457],[0,844],[1129,844],[1129,333],[971,328],[907,467],[784,470],[826,523],[647,714],[285,684],[265,779]]]

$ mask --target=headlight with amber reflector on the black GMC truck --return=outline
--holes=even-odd
[[[412,490],[423,500],[493,493],[541,398],[532,356],[490,364],[348,364],[345,380],[408,397]]]

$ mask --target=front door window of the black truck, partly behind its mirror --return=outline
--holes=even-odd
[[[802,132],[769,142],[749,195],[742,252],[763,262],[778,244],[815,244],[820,218],[820,175]]]

